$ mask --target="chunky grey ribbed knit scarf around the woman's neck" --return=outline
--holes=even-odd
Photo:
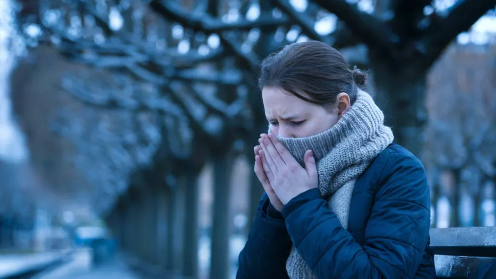
[[[346,229],[356,179],[394,137],[372,97],[359,90],[350,110],[331,129],[307,138],[279,139],[302,166],[305,152],[313,150],[320,196]],[[316,279],[294,246],[286,270],[290,279]]]

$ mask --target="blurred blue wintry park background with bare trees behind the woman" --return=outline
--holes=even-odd
[[[309,39],[369,70],[432,226],[495,226],[495,5],[0,0],[0,278],[234,279],[258,67]]]

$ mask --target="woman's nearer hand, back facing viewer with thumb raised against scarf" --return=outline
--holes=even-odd
[[[317,167],[313,152],[305,153],[305,168],[300,166],[289,150],[273,134],[258,139],[263,151],[263,169],[279,200],[286,205],[307,190],[317,188]]]

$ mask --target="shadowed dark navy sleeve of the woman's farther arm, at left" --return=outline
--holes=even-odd
[[[291,239],[286,223],[276,209],[270,208],[267,194],[258,203],[248,241],[238,259],[236,279],[287,279],[286,260]]]

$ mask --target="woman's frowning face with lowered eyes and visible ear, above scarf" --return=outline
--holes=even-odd
[[[262,89],[263,107],[270,130],[282,138],[304,138],[329,130],[351,104],[346,93],[332,105],[317,105],[274,86]]]

